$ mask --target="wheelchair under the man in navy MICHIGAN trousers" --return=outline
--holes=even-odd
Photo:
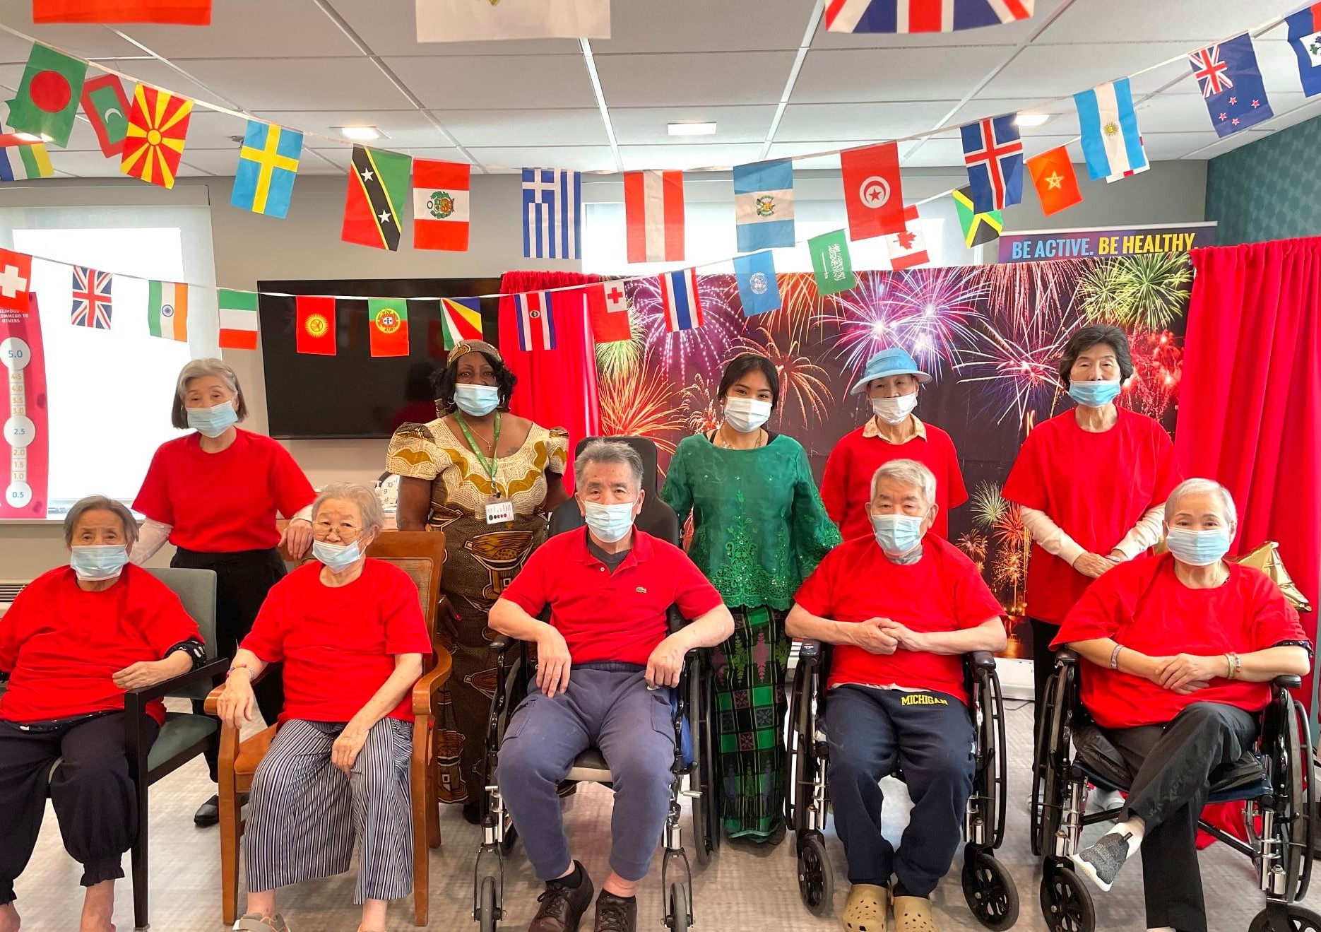
[[[790,697],[789,755],[793,780],[785,800],[785,818],[798,846],[798,892],[815,915],[828,915],[835,878],[826,853],[826,795],[830,744],[822,718],[830,645],[802,641],[794,691]],[[1004,841],[1005,736],[1004,697],[995,657],[985,650],[964,654],[963,673],[974,727],[972,795],[963,818],[963,898],[976,920],[1001,932],[1018,919],[1018,890],[995,850]],[[904,779],[898,771],[893,776]]]

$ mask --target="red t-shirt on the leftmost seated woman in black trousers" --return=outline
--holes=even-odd
[[[99,711],[123,711],[124,690],[112,676],[201,632],[178,596],[136,566],[125,566],[110,588],[89,592],[67,566],[28,584],[0,617],[0,670],[9,689],[0,719],[48,722]],[[147,711],[165,722],[165,703]]]

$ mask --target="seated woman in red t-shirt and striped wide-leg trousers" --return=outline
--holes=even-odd
[[[279,887],[349,870],[359,846],[359,932],[386,928],[412,890],[410,693],[431,654],[417,587],[365,553],[384,516],[370,489],[326,486],[312,506],[314,561],[277,582],[243,639],[219,717],[252,720],[252,681],[284,664],[284,711],[252,775],[244,834],[247,911],[234,925],[288,932]]]

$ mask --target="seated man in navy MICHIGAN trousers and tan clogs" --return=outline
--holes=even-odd
[[[935,476],[892,460],[872,477],[873,538],[835,547],[803,583],[786,631],[836,645],[826,732],[835,829],[852,890],[849,932],[888,923],[934,932],[930,894],[963,841],[972,722],[962,654],[1003,650],[1000,603],[972,561],[937,534]],[[913,813],[896,851],[881,834],[880,780],[902,769]]]

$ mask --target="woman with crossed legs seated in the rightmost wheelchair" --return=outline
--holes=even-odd
[[[1152,929],[1205,932],[1194,842],[1210,776],[1252,747],[1269,681],[1310,666],[1297,612],[1275,583],[1225,561],[1236,525],[1219,483],[1176,486],[1165,502],[1169,553],[1107,570],[1052,645],[1090,661],[1082,703],[1136,775],[1128,818],[1073,861],[1110,890],[1141,846]]]

